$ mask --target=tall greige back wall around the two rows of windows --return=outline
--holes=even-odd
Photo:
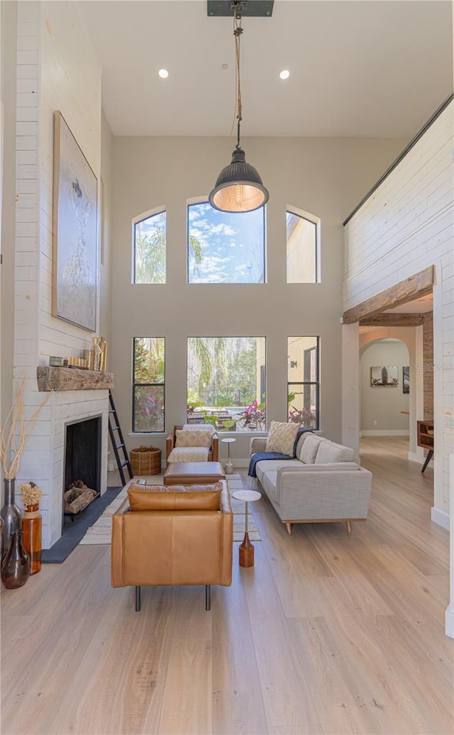
[[[187,200],[206,197],[231,142],[202,137],[115,137],[112,196],[112,339],[115,401],[131,427],[132,337],[166,337],[166,431],[184,421],[188,336],[267,337],[267,417],[287,418],[287,335],[321,337],[320,428],[341,438],[342,220],[378,179],[403,140],[253,138],[243,145],[270,190],[267,283],[186,283]],[[321,284],[286,284],[285,211],[321,218]],[[131,221],[167,209],[167,284],[131,285]],[[248,456],[238,436],[232,456]],[[163,437],[128,437],[129,448]]]

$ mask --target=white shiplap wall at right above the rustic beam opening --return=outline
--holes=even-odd
[[[444,526],[454,450],[453,198],[451,102],[345,226],[345,309],[428,265],[436,268],[433,520]]]

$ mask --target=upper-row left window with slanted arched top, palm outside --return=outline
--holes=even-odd
[[[134,223],[134,283],[165,283],[166,213]]]

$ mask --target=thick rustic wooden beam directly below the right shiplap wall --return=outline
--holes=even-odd
[[[344,312],[344,324],[354,324],[366,317],[380,314],[385,309],[393,309],[394,306],[406,304],[408,301],[414,301],[428,293],[431,293],[435,282],[435,267],[429,265],[428,268],[420,270],[414,276],[405,281],[390,286],[385,291],[368,298],[367,301],[361,301],[361,304],[352,306]]]

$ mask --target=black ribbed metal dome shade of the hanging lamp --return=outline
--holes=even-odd
[[[263,207],[269,196],[259,172],[246,161],[245,151],[236,148],[230,164],[217,176],[209,203],[221,212],[252,212]]]

